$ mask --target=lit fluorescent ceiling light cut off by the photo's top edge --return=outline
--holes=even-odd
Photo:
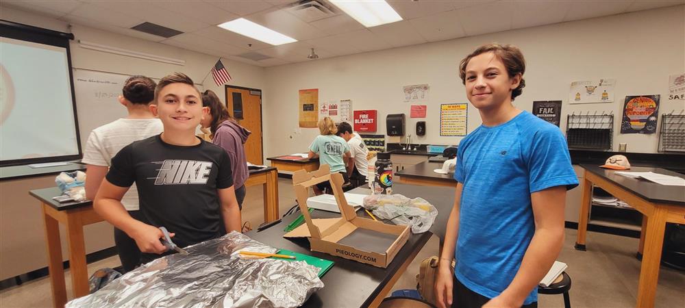
[[[401,21],[402,17],[384,0],[375,1],[350,1],[329,0],[340,10],[360,22],[364,27],[370,28],[386,23]]]

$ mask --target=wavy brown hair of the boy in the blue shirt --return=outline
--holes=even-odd
[[[466,65],[469,64],[471,58],[475,57],[476,55],[489,52],[495,53],[495,57],[497,57],[504,64],[509,78],[512,78],[517,74],[521,74],[521,83],[518,87],[512,90],[512,101],[514,101],[514,98],[523,93],[523,88],[525,87],[525,80],[523,79],[523,73],[525,73],[525,59],[523,59],[523,53],[521,53],[521,49],[514,45],[501,45],[497,43],[484,44],[475,49],[475,51],[473,51],[473,53],[470,55],[464,57],[464,60],[459,63],[459,77],[462,78],[462,84],[466,84]]]

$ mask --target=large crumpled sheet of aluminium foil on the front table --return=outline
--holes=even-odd
[[[66,307],[298,307],[323,287],[304,261],[246,259],[277,249],[233,231],[140,266]]]

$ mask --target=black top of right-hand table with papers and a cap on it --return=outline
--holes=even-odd
[[[621,188],[633,192],[634,194],[644,198],[645,200],[653,203],[669,203],[673,205],[684,205],[685,206],[685,187],[684,186],[671,186],[671,185],[661,185],[658,183],[653,183],[645,179],[634,179],[632,177],[624,177],[623,175],[616,175],[616,171],[629,171],[629,172],[655,172],[662,175],[671,175],[674,177],[682,177],[685,179],[685,175],[677,172],[669,171],[662,168],[651,168],[651,167],[631,167],[629,170],[611,170],[600,168],[596,164],[580,164],[582,168],[588,172],[592,172],[599,177],[607,179],[611,183],[619,185]]]

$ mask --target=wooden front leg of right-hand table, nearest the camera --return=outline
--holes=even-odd
[[[645,253],[640,266],[640,282],[638,283],[638,303],[636,307],[654,307],[656,284],[659,280],[659,265],[661,264],[661,249],[666,229],[667,210],[655,207],[647,220],[645,234]]]

